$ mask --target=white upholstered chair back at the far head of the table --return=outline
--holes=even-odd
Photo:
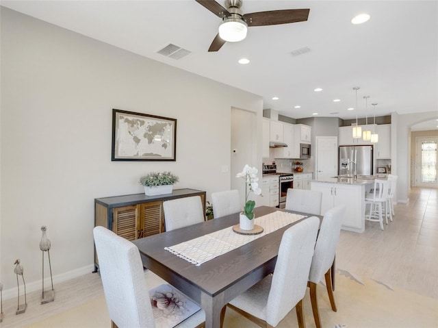
[[[286,210],[304,212],[313,215],[321,214],[322,192],[307,189],[287,189]]]

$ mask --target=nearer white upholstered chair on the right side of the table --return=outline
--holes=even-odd
[[[227,305],[260,327],[276,327],[296,307],[298,326],[305,327],[302,299],[320,219],[312,216],[285,231],[273,275],[268,275]],[[222,310],[224,316],[224,311]]]

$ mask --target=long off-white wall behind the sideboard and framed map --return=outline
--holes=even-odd
[[[40,286],[40,226],[59,279],[93,264],[94,198],[142,192],[138,178],[172,171],[175,188],[230,188],[231,108],[261,97],[1,10],[0,281],[21,259]],[[112,109],[177,118],[176,162],[111,162]],[[256,147],[261,163],[261,146]],[[55,280],[56,281],[56,280]],[[31,288],[28,288],[28,291]],[[3,294],[5,296],[5,294]]]

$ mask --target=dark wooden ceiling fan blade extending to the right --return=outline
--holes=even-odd
[[[272,10],[244,14],[248,26],[277,25],[307,21],[310,9]]]

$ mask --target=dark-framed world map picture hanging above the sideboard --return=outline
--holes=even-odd
[[[112,110],[112,161],[175,161],[177,120]]]

